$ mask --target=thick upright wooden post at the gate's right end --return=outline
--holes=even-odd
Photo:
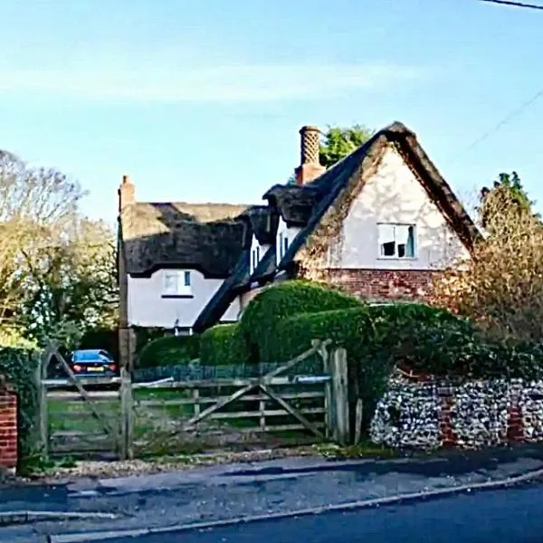
[[[350,442],[347,351],[344,348],[335,349],[330,362],[332,383],[327,416],[329,434],[335,442],[347,445]]]

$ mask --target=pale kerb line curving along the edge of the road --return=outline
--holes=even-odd
[[[543,477],[543,469],[534,470],[533,472],[523,473],[507,479],[499,481],[486,481],[473,484],[464,484],[455,487],[446,487],[435,491],[411,492],[405,494],[397,494],[387,496],[385,498],[375,498],[372,500],[356,500],[346,503],[331,504],[328,506],[310,508],[305,510],[285,511],[281,513],[270,513],[266,515],[253,515],[248,517],[237,517],[234,519],[214,520],[210,522],[194,522],[189,524],[177,524],[164,528],[145,528],[145,529],[119,529],[119,530],[102,530],[86,533],[71,533],[49,535],[48,543],[88,543],[89,541],[104,541],[114,538],[134,538],[140,536],[148,536],[151,534],[164,534],[173,532],[194,531],[197,529],[216,529],[239,524],[247,524],[250,522],[262,522],[265,520],[277,519],[292,519],[294,517],[307,517],[310,515],[319,515],[328,512],[340,512],[349,510],[360,510],[371,507],[379,507],[385,505],[393,505],[401,501],[419,501],[428,500],[431,498],[441,498],[453,494],[461,494],[462,492],[493,490],[507,487],[510,485],[519,484],[521,482],[531,481]]]

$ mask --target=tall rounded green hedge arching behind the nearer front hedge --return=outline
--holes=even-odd
[[[275,327],[281,319],[301,313],[361,307],[364,307],[361,301],[336,289],[310,281],[283,281],[264,289],[249,303],[240,327],[252,358],[267,363],[275,360],[269,354]]]

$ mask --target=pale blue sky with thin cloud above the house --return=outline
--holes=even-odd
[[[543,2],[541,2],[543,4]],[[462,197],[516,169],[543,209],[543,12],[477,0],[3,0],[0,148],[112,219],[141,200],[257,203],[303,124],[401,120]]]

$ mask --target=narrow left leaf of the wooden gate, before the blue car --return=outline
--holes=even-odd
[[[53,360],[64,377],[48,378]],[[45,456],[122,454],[119,377],[76,377],[52,342],[43,352],[38,372],[39,431]]]

